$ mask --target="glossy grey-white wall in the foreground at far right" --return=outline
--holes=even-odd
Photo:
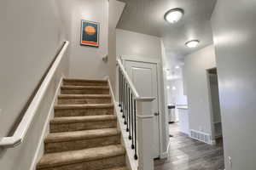
[[[212,14],[226,170],[256,168],[255,8],[255,1],[220,0]]]

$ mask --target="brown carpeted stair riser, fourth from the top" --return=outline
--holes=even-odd
[[[113,115],[113,108],[102,109],[55,109],[55,117]]]

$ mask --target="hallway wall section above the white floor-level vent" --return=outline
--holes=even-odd
[[[189,105],[189,127],[212,134],[207,69],[216,67],[213,45],[185,57],[183,75]]]

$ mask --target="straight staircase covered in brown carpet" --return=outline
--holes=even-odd
[[[64,79],[37,170],[128,170],[107,81]]]

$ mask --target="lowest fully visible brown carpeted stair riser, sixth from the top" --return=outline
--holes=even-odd
[[[44,150],[46,153],[52,153],[67,150],[82,150],[86,148],[100,147],[109,144],[120,144],[120,135],[96,139],[77,139],[65,142],[45,143]]]

